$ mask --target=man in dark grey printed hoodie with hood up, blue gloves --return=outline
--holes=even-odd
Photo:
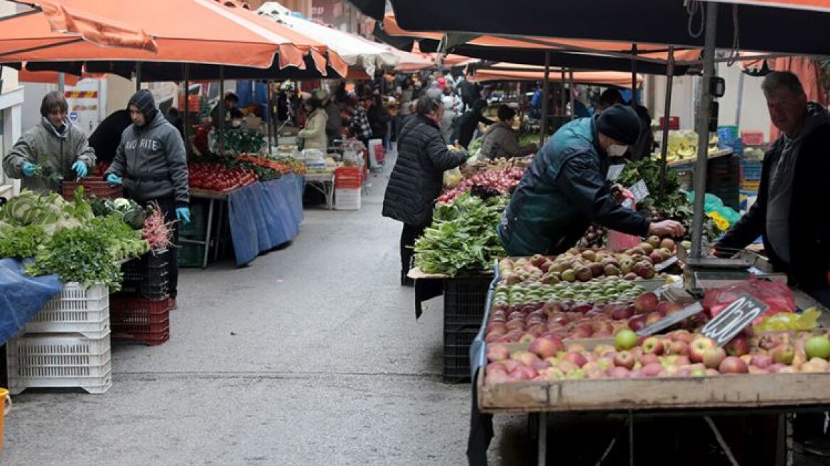
[[[156,201],[166,221],[190,222],[188,163],[182,136],[155,106],[149,90],[139,90],[129,99],[129,125],[104,178],[124,184],[126,195],[142,204]],[[178,243],[178,227],[173,244]],[[173,308],[178,286],[178,254],[169,255],[169,290]]]

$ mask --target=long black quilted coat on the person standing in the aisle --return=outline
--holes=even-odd
[[[443,173],[461,165],[466,156],[447,148],[432,120],[410,117],[398,139],[398,162],[383,197],[383,216],[409,225],[428,223],[441,194]]]

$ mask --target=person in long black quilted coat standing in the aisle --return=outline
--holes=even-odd
[[[466,152],[451,151],[441,135],[444,105],[440,99],[417,100],[416,115],[408,119],[398,139],[398,162],[383,196],[383,216],[403,222],[401,233],[401,284],[407,278],[413,245],[432,223],[432,206],[441,194],[443,173],[458,167]]]

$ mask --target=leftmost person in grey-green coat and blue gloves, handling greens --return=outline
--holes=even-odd
[[[95,149],[66,119],[68,110],[60,92],[46,94],[41,102],[41,122],[23,133],[3,158],[3,170],[9,177],[22,178],[23,189],[61,192],[61,182],[46,175],[59,173],[63,179],[75,180],[95,167]]]

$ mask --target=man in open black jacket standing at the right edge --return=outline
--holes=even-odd
[[[798,76],[775,71],[761,85],[769,118],[781,137],[764,156],[758,200],[715,246],[731,255],[763,236],[774,269],[830,305],[830,216],[824,213],[830,179],[830,114],[807,101]]]

